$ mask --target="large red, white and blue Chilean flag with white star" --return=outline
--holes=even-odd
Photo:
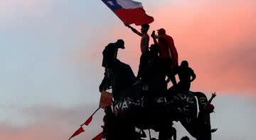
[[[124,23],[149,24],[154,18],[146,15],[142,3],[132,0],[102,0]]]

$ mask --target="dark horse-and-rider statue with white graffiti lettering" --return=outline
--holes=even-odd
[[[191,136],[198,140],[210,140],[211,134],[203,134],[196,127],[198,123],[196,98],[200,97],[199,109],[203,110],[208,102],[203,93],[193,93],[191,91],[166,91],[156,93],[153,100],[145,100],[144,96],[132,85],[134,78],[129,65],[114,59],[110,65],[110,86],[114,97],[114,115],[119,119],[120,129],[124,129],[123,134],[131,133],[134,136],[134,127],[139,129],[156,129],[165,127],[166,122],[180,121]],[[150,103],[148,103],[150,102]],[[206,115],[208,116],[208,115]],[[208,117],[201,117],[201,122],[205,122],[201,128],[210,125]]]

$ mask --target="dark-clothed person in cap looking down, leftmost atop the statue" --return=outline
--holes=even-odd
[[[124,40],[117,40],[117,42],[110,43],[107,45],[102,52],[103,59],[102,59],[102,66],[105,67],[104,78],[102,83],[100,84],[100,92],[106,91],[108,87],[110,87],[110,66],[114,59],[117,59],[117,52],[118,49],[124,49]]]

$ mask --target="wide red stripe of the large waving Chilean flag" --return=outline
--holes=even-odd
[[[118,9],[114,13],[127,24],[135,23],[135,25],[149,24],[154,21],[154,18],[146,15],[143,8],[128,8]]]

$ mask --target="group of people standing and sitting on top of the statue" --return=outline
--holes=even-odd
[[[196,74],[193,69],[188,66],[188,61],[184,60],[181,62],[181,65],[178,66],[178,52],[174,45],[174,40],[170,35],[166,34],[166,30],[161,28],[157,30],[157,34],[155,35],[155,31],[151,34],[151,37],[154,40],[154,45],[149,47],[149,25],[142,25],[141,32],[133,28],[131,25],[124,24],[128,28],[132,30],[135,34],[141,37],[140,49],[141,49],[141,57],[139,61],[139,70],[136,77],[134,77],[134,83],[138,81],[146,81],[150,76],[153,76],[157,71],[152,71],[149,73],[152,57],[159,57],[159,72],[164,74],[161,76],[162,78],[166,78],[166,83],[173,84],[173,87],[178,88],[179,90],[189,91],[191,87],[191,82],[196,79]],[[153,48],[155,47],[155,49]],[[124,40],[117,40],[117,42],[110,43],[107,45],[103,51],[103,61],[102,66],[105,67],[105,77],[107,76],[108,68],[113,59],[117,59],[118,49],[124,49]],[[152,50],[154,49],[154,51]],[[154,53],[156,52],[156,53]],[[154,55],[156,54],[156,55]],[[155,60],[155,59],[154,59]],[[178,74],[179,82],[176,82],[175,75]],[[106,90],[107,81],[105,78],[100,85],[100,91]]]

